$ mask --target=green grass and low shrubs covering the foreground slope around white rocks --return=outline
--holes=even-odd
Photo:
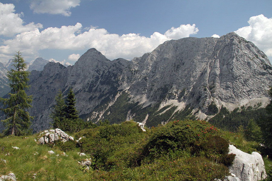
[[[212,136],[221,136],[243,151],[256,150],[254,142],[244,141],[243,135],[215,128],[202,121],[172,121],[165,126],[147,129],[146,132],[135,122],[103,125],[84,129],[72,136],[76,142],[37,145],[34,138],[8,136],[0,138],[0,175],[15,173],[18,180],[88,180],[88,181],[128,181],[128,180],[214,180],[229,175],[226,165],[211,157],[224,154],[205,152],[205,141]],[[202,145],[197,154],[192,148]],[[21,148],[15,150],[12,146]],[[209,147],[211,149],[212,147]],[[48,151],[55,154],[48,154]],[[68,155],[63,156],[62,153]],[[80,157],[77,152],[87,156]],[[6,155],[6,154],[10,155]],[[38,154],[37,154],[38,153]],[[59,154],[60,156],[57,156]],[[212,155],[211,155],[212,154]],[[84,171],[77,161],[91,158],[89,171]],[[220,159],[219,159],[220,160]],[[267,171],[271,170],[271,160],[264,158]]]

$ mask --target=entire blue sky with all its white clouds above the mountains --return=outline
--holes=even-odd
[[[235,32],[272,61],[271,0],[0,0],[0,62],[131,60],[167,40]]]

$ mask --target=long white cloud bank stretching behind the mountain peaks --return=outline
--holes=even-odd
[[[195,24],[180,25],[172,27],[164,34],[155,32],[150,37],[139,34],[110,34],[107,30],[91,27],[88,31],[83,30],[80,23],[74,26],[62,26],[61,28],[49,27],[41,32],[38,29],[18,34],[15,38],[5,40],[0,46],[0,55],[13,55],[14,50],[24,52],[24,56],[34,56],[42,49],[70,49],[82,50],[96,48],[108,59],[124,58],[132,59],[151,52],[166,40],[189,37],[190,34],[198,32]],[[70,59],[75,56],[71,56]],[[1,60],[0,56],[0,61]],[[68,60],[70,60],[68,58]],[[5,62],[5,61],[4,61]]]

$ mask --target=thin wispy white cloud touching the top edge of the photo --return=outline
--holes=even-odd
[[[30,8],[34,13],[71,15],[71,8],[79,6],[80,0],[31,0]]]

